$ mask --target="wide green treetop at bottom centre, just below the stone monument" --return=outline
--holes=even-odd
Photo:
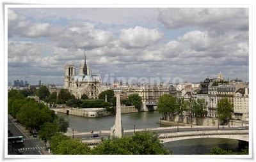
[[[134,135],[103,140],[92,154],[168,154],[156,133],[138,131]]]

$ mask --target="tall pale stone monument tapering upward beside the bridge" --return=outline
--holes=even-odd
[[[121,120],[121,104],[120,104],[120,94],[116,94],[116,121],[114,126],[111,128],[110,137],[120,138],[124,136],[124,128]]]

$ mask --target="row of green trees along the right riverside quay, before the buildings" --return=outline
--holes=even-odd
[[[176,98],[170,94],[164,94],[160,96],[157,111],[163,114],[163,119],[166,120],[169,117],[170,121],[173,121],[175,115],[179,115],[184,119],[184,113],[192,119],[195,117],[196,125],[198,121],[207,115],[207,101],[205,99],[189,99]],[[227,123],[232,118],[233,104],[228,98],[222,98],[217,105],[218,119],[222,124]]]

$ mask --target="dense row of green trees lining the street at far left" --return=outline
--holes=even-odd
[[[43,103],[27,98],[24,91],[8,92],[8,113],[27,129],[39,130],[42,140],[49,139],[52,132],[66,132],[68,128],[66,119],[58,117]]]

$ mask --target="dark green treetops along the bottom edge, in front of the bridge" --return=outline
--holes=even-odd
[[[51,136],[53,154],[170,154],[156,133],[136,132],[122,138],[102,139],[102,143],[90,149],[81,141],[61,133]]]

